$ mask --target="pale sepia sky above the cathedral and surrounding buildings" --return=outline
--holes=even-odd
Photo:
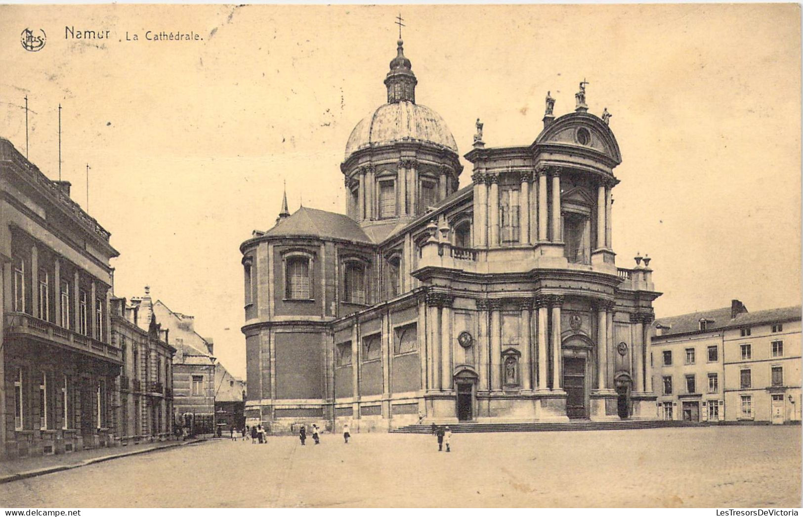
[[[392,6],[0,6],[0,136],[112,232],[115,294],[145,285],[195,316],[245,375],[239,245],[267,230],[283,182],[344,211],[340,162],[384,104]],[[801,299],[801,35],[793,4],[403,6],[416,100],[462,155],[528,145],[574,108],[613,114],[618,267],[653,258],[658,317]],[[43,30],[26,51],[19,35]],[[75,39],[73,31],[109,31]],[[198,34],[149,41],[152,33]],[[105,32],[104,32],[105,34]],[[137,35],[137,40],[133,36]],[[471,181],[471,165],[460,185]]]

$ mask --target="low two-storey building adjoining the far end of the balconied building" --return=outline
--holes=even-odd
[[[117,436],[123,445],[169,439],[173,435],[173,354],[166,332],[152,319],[139,326],[139,309],[112,298],[112,342],[120,348]]]

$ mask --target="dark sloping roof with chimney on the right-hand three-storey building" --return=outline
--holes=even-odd
[[[705,331],[700,331],[699,321],[708,320]],[[697,311],[688,314],[658,318],[654,325],[670,327],[662,336],[683,334],[686,332],[711,332],[718,329],[742,327],[744,325],[768,324],[773,321],[788,321],[801,318],[801,306],[781,307],[765,311],[742,312],[731,318],[731,307],[712,309],[710,311]]]

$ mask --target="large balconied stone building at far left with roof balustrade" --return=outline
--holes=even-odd
[[[111,446],[116,377],[109,233],[0,138],[0,453]]]

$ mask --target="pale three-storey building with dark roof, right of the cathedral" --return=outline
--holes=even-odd
[[[660,318],[650,360],[658,417],[800,421],[801,307],[731,307]]]

